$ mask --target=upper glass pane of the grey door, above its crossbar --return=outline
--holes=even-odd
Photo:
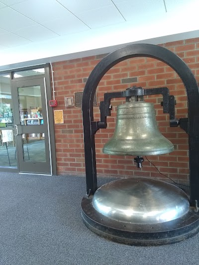
[[[18,88],[21,125],[43,124],[40,86]]]

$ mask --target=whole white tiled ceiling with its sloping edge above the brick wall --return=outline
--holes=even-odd
[[[199,0],[0,0],[0,70],[199,37]]]

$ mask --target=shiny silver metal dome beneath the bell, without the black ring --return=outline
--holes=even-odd
[[[157,224],[185,215],[190,203],[187,194],[173,184],[133,177],[102,185],[94,194],[93,206],[116,221]]]

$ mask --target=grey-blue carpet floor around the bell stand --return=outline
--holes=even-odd
[[[199,234],[158,247],[97,236],[81,219],[85,194],[84,177],[0,173],[0,265],[199,265]]]

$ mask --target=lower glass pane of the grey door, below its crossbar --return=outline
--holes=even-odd
[[[23,160],[46,162],[44,133],[22,134]]]

